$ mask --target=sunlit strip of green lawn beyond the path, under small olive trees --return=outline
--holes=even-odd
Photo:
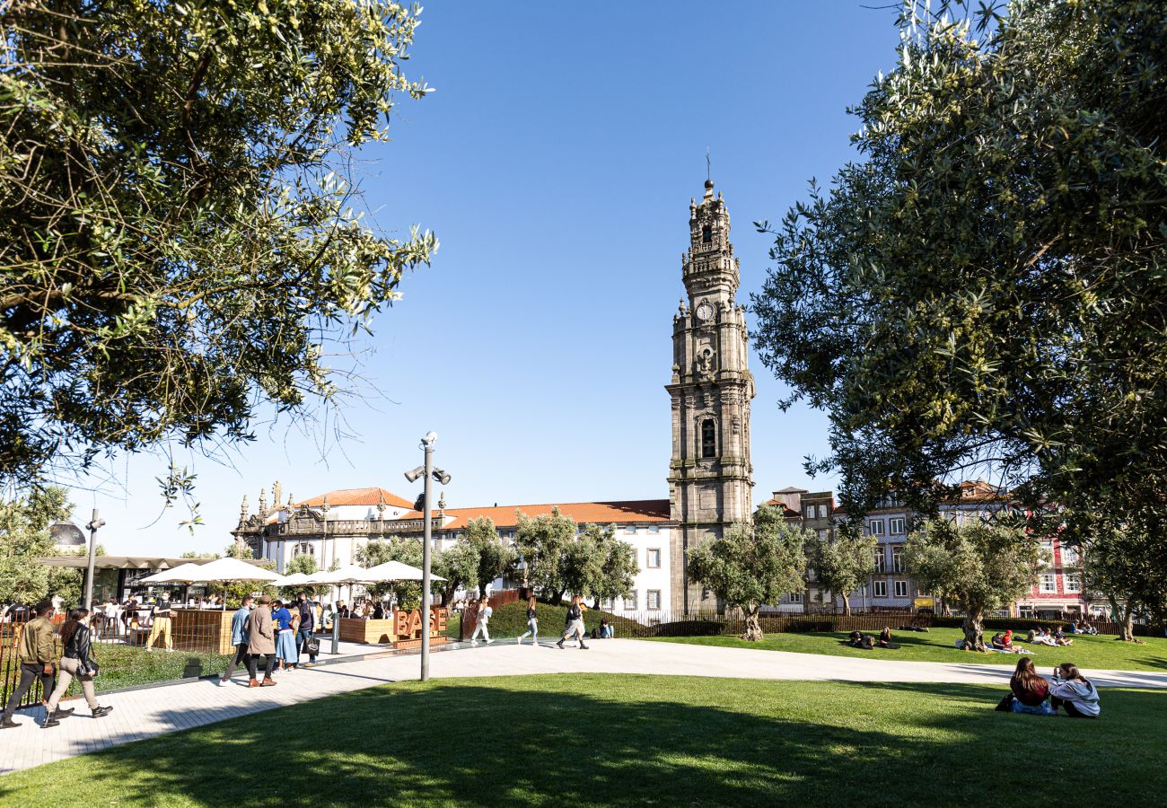
[[[876,648],[860,650],[843,645],[847,632],[812,632],[806,634],[767,634],[762,642],[746,642],[736,636],[679,636],[651,638],[652,642],[691,642],[703,646],[729,646],[734,648],[761,648],[764,650],[789,650],[799,654],[829,654],[831,656],[864,656],[880,660],[909,660],[914,662],[977,662],[986,664],[1016,664],[1013,654],[976,654],[957,650],[953,645],[963,636],[959,628],[934,628],[931,632],[893,632],[900,646],[895,650]],[[992,633],[986,632],[987,638]],[[1118,670],[1167,671],[1167,639],[1141,638],[1146,645],[1118,642],[1113,636],[1075,636],[1069,648],[1019,643],[1033,652],[1033,661],[1039,668],[1053,668],[1062,662],[1072,662],[1083,670],[1113,668]],[[1048,673],[1048,671],[1047,671]]]

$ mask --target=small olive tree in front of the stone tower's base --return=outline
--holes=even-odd
[[[725,536],[690,548],[689,577],[746,612],[746,639],[760,640],[759,610],[803,586],[803,546],[811,535],[788,524],[776,508],[762,506],[753,525],[736,523]]]

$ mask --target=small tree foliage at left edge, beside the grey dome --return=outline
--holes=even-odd
[[[75,595],[69,602],[77,602],[77,571],[50,573],[36,563],[56,555],[49,525],[69,518],[72,508],[68,492],[56,487],[34,488],[26,496],[0,502],[0,601],[34,604],[55,593],[49,588],[51,580],[65,594]]]

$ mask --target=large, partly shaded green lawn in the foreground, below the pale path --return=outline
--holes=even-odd
[[[1161,804],[1167,694],[1106,690],[1096,722],[998,713],[999,696],[615,675],[399,683],[11,774],[0,803]]]

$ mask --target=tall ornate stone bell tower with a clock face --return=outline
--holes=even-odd
[[[717,600],[691,584],[689,548],[747,521],[753,508],[745,307],[736,301],[739,266],[729,244],[729,213],[713,181],[689,206],[690,249],[682,256],[689,295],[672,319],[671,546],[672,608],[712,610]]]

